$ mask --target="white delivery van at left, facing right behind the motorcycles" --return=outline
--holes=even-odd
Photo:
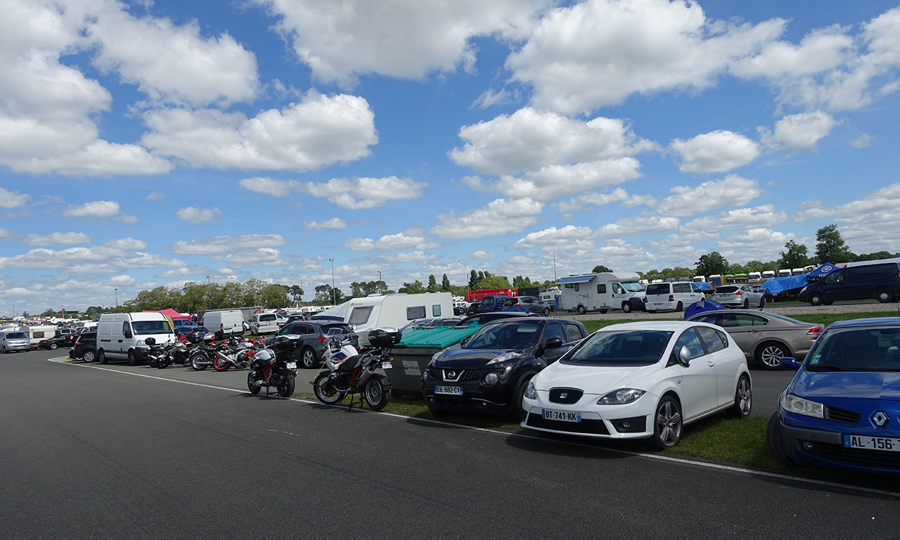
[[[147,360],[147,338],[163,344],[175,338],[171,324],[162,313],[103,313],[97,323],[97,358],[101,364],[110,360],[128,360],[138,365]]]

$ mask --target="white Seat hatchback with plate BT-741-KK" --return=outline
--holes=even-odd
[[[523,428],[675,446],[685,424],[750,416],[750,371],[722,329],[651,320],[600,329],[527,384]]]

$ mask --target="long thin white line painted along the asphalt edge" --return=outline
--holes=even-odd
[[[211,388],[214,390],[225,390],[228,392],[247,392],[247,390],[245,390],[245,389],[226,388],[224,386],[215,386],[212,384],[204,384],[204,383],[191,383],[189,381],[178,381],[176,379],[167,379],[166,377],[157,377],[155,375],[133,374],[131,372],[119,371],[117,369],[110,369],[108,367],[101,367],[99,365],[71,364],[69,362],[62,361],[61,358],[48,358],[47,361],[53,362],[55,364],[60,364],[60,365],[74,365],[76,367],[90,367],[93,369],[99,369],[101,371],[112,372],[115,374],[133,375],[135,377],[145,377],[147,379],[157,379],[157,381],[167,381],[169,383],[189,384],[191,386],[201,386],[203,388]],[[269,397],[277,398],[279,400],[299,401],[301,403],[309,403],[312,405],[319,405],[320,407],[333,407],[336,409],[346,407],[344,405],[326,405],[320,401],[302,400],[300,398],[283,398],[283,397],[279,396],[278,394],[271,394]],[[644,454],[642,452],[631,452],[628,450],[618,450],[616,448],[605,448],[605,447],[600,447],[600,446],[592,446],[592,445],[586,445],[583,443],[574,443],[572,441],[562,441],[562,440],[561,441],[553,441],[553,440],[545,438],[545,437],[535,437],[533,435],[525,435],[525,434],[521,434],[521,433],[502,431],[500,429],[476,428],[473,426],[465,426],[464,424],[455,424],[453,422],[445,422],[443,420],[417,419],[414,417],[398,414],[396,412],[375,411],[375,410],[368,410],[368,409],[362,409],[362,408],[357,408],[356,410],[359,410],[360,412],[371,412],[371,413],[378,414],[380,416],[391,417],[394,419],[401,419],[403,421],[407,421],[407,420],[411,419],[416,422],[425,422],[428,424],[437,424],[440,426],[453,426],[454,428],[471,429],[473,431],[481,431],[482,433],[491,433],[494,435],[501,435],[503,437],[527,438],[527,439],[541,441],[541,442],[545,442],[545,443],[552,442],[554,444],[559,444],[559,445],[590,448],[591,450],[599,450],[601,452],[613,452],[616,454],[634,455],[636,457],[644,457],[644,458],[648,458],[648,459],[655,459],[655,460],[659,460],[659,461],[666,461],[666,462],[672,462],[672,463],[677,463],[677,464],[687,464],[687,465],[693,465],[693,466],[697,466],[697,467],[706,467],[707,469],[716,469],[718,471],[728,471],[731,473],[751,474],[753,476],[764,476],[766,478],[777,478],[779,480],[808,483],[808,484],[814,484],[814,485],[819,485],[819,486],[826,486],[826,487],[830,487],[830,488],[837,488],[837,489],[841,489],[841,490],[861,491],[864,493],[872,493],[875,495],[884,495],[887,497],[900,498],[900,493],[896,493],[894,491],[885,491],[885,490],[878,490],[875,488],[864,488],[864,487],[860,487],[860,486],[851,486],[848,484],[842,484],[842,483],[838,483],[838,482],[827,482],[824,480],[803,478],[801,476],[791,476],[789,474],[768,473],[766,471],[756,471],[754,469],[745,469],[743,467],[737,467],[734,465],[710,464],[707,462],[698,462],[698,461],[689,460],[689,459],[686,459],[683,457],[673,457],[671,455],[659,455],[659,454]]]

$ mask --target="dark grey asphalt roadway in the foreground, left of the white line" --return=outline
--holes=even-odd
[[[900,527],[894,496],[250,396],[237,390],[246,372],[50,356],[0,356],[4,539],[894,538]]]

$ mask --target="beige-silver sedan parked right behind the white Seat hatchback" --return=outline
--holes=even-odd
[[[781,358],[802,361],[824,330],[824,325],[756,310],[704,311],[689,320],[708,322],[725,329],[748,360],[764,369],[779,369]]]

